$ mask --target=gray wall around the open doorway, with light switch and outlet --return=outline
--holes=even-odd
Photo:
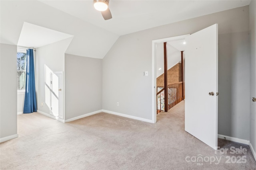
[[[152,40],[218,23],[218,133],[249,140],[248,11],[245,6],[121,36],[103,59],[103,109],[152,119]],[[143,71],[149,76],[142,76]]]

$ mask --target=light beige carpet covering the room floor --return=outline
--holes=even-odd
[[[158,122],[152,124],[98,113],[61,123],[39,113],[18,115],[19,137],[0,144],[0,168],[256,169],[256,162],[248,145],[219,139],[219,146],[228,151],[215,153],[212,148],[186,133],[184,102],[167,113],[158,114],[157,119]],[[247,152],[232,154],[232,146],[242,147]]]

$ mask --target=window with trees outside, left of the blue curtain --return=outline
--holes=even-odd
[[[26,52],[17,52],[17,90],[25,90],[26,82]]]

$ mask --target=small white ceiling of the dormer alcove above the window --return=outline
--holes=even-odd
[[[73,35],[24,22],[18,45],[38,48],[69,37]]]

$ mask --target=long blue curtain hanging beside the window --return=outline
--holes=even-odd
[[[36,107],[36,86],[33,49],[27,49],[26,89],[23,113],[33,113]]]

